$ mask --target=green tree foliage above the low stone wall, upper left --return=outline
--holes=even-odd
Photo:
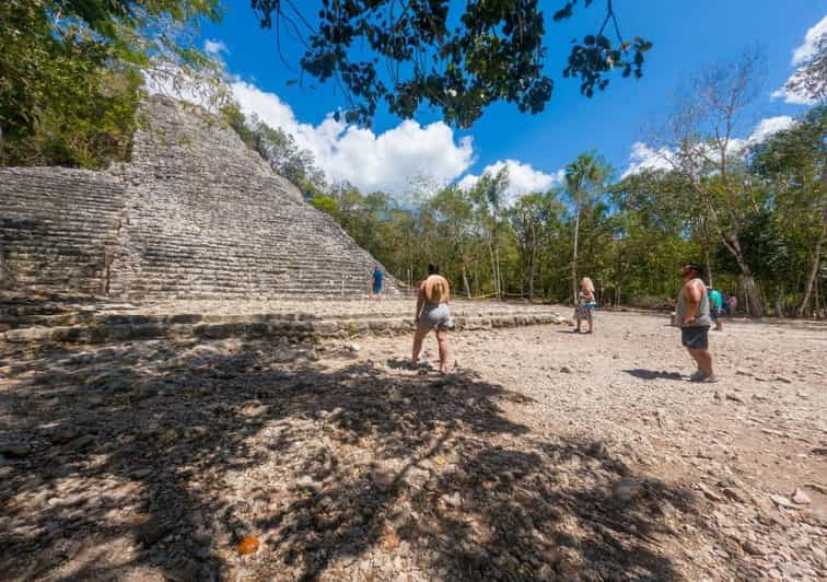
[[[194,47],[218,0],[0,2],[0,164],[123,159],[147,78],[206,70]]]

